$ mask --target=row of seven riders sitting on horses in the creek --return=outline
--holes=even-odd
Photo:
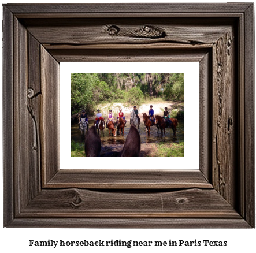
[[[139,111],[138,111],[136,106],[133,106],[133,111],[134,111],[136,117],[138,118],[138,121],[139,121],[139,124],[140,124],[140,118],[138,116]],[[154,110],[153,110],[153,106],[152,105],[150,106],[150,110],[149,110],[149,115],[148,116],[150,117],[151,125],[154,125],[155,124],[155,118],[154,118]],[[126,126],[126,122],[127,121],[125,120],[124,113],[122,112],[122,109],[119,109],[118,117],[123,118],[124,126]],[[116,126],[116,124],[118,126],[118,117],[117,117],[117,122],[115,122],[112,110],[109,110],[109,114],[108,114],[108,118],[107,118],[107,122],[106,122],[106,127],[107,127],[107,124],[109,124],[110,121],[112,121],[114,123],[114,127]],[[88,127],[89,127],[88,118],[87,118],[86,112],[84,110],[82,111],[82,114],[79,117],[79,126],[81,124],[82,118],[84,118],[85,121],[87,122],[87,130],[88,130]],[[165,118],[165,120],[169,123],[169,126],[172,124],[172,121],[170,120],[170,115],[169,115],[169,111],[167,110],[167,107],[165,107],[163,118]],[[98,109],[97,110],[97,114],[96,114],[96,118],[95,118],[95,120],[96,120],[95,126],[96,127],[98,125],[98,122],[101,119],[102,119],[102,114],[101,114],[101,111]],[[130,119],[130,124],[131,124],[131,119]]]

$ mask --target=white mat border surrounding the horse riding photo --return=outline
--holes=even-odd
[[[184,157],[151,157],[147,158],[150,168],[155,169],[159,162],[172,161],[172,168],[199,169],[199,130],[191,127],[199,114],[199,64],[198,62],[88,62],[61,63],[61,169],[99,169],[95,161],[103,164],[113,162],[113,157],[84,158],[71,157],[71,126],[67,124],[67,115],[71,114],[71,73],[184,73]],[[192,95],[191,95],[192,94]],[[140,112],[140,111],[139,111]],[[196,117],[197,116],[197,117]],[[140,117],[141,118],[141,117]],[[199,120],[197,120],[199,124]],[[91,125],[90,125],[91,126]],[[144,124],[140,126],[140,135],[146,135]],[[169,130],[168,130],[169,131]],[[80,132],[77,130],[77,132]],[[172,131],[171,131],[172,132]],[[105,130],[105,135],[107,131]],[[127,134],[127,133],[126,133]],[[86,159],[86,162],[85,162]],[[138,165],[146,158],[117,157],[116,162],[122,162],[123,169],[131,169],[130,164]],[[191,165],[192,164],[192,165]],[[105,167],[105,166],[104,166]],[[168,168],[167,169],[172,169]],[[106,169],[106,168],[104,168]],[[135,168],[136,169],[136,168]]]

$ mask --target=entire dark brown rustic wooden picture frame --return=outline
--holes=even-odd
[[[60,170],[77,61],[199,62],[200,170]],[[4,226],[255,228],[254,130],[253,3],[3,5]]]

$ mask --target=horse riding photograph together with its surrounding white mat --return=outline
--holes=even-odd
[[[199,132],[194,131],[189,124],[199,117],[198,66],[198,62],[61,63],[60,168],[92,170],[199,168]],[[111,73],[113,70],[115,73]],[[172,73],[168,73],[170,70]],[[162,73],[163,71],[165,73]],[[149,76],[152,76],[152,98],[149,95]],[[176,93],[172,95],[172,91]],[[193,92],[194,95],[191,95]],[[68,103],[70,100],[71,102]],[[150,124],[150,135],[147,135],[143,113],[146,116],[149,114],[150,105],[153,106],[154,120],[153,125]],[[138,109],[140,119],[140,124],[138,120],[135,121],[139,131],[137,136],[140,139],[138,156],[150,158],[150,162],[138,157],[118,157],[127,140],[132,139],[132,143],[135,143],[131,135],[128,138],[133,106]],[[184,108],[187,110],[185,118]],[[94,125],[97,109],[104,118],[102,122],[105,128],[103,131],[98,131],[101,139],[101,159],[100,163],[96,164],[95,159],[85,161],[83,158],[86,157],[84,140],[88,135],[88,129]],[[112,111],[114,118],[113,132],[110,133],[106,126],[109,110]],[[127,121],[124,133],[121,132],[117,122],[120,110],[124,120]],[[71,126],[66,124],[68,111],[71,111]],[[170,118],[168,125],[166,120],[162,120],[165,112]],[[82,113],[85,117],[84,122],[79,121],[79,115]],[[162,125],[155,122],[156,118],[160,118],[165,123],[163,131],[161,131]],[[151,121],[148,120],[148,123]],[[198,125],[195,128],[198,129]],[[135,150],[132,145],[131,148]],[[164,166],[165,163],[168,164],[170,157],[172,163]],[[192,167],[190,161],[193,161]],[[105,166],[102,166],[103,164]]]

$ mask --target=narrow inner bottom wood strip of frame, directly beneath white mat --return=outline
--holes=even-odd
[[[45,188],[212,189],[199,170],[60,170]]]

